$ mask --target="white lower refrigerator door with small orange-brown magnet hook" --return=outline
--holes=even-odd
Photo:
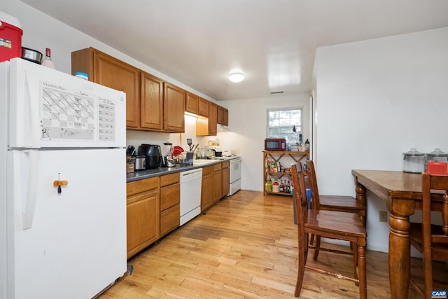
[[[126,272],[124,157],[124,148],[8,152],[6,298],[92,298]]]

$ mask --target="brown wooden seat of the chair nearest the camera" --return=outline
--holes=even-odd
[[[321,237],[335,238],[335,235],[344,235],[343,239],[350,241],[356,238],[365,238],[367,233],[358,214],[343,211],[308,210],[304,215],[304,227],[309,233],[318,228]],[[349,237],[350,236],[350,237]]]

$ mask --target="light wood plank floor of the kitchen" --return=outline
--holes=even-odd
[[[292,197],[241,190],[128,263],[134,272],[101,299],[293,298],[297,229]],[[321,252],[318,263],[351,274],[351,256]],[[437,286],[447,290],[447,265],[435,267]],[[412,259],[412,274],[421,277],[421,260]],[[367,298],[390,298],[388,284],[386,253],[367,251]],[[300,298],[359,297],[353,282],[305,270]],[[409,298],[419,296],[411,289]]]

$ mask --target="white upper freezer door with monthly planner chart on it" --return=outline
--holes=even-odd
[[[126,95],[15,58],[9,65],[9,146],[126,146]]]

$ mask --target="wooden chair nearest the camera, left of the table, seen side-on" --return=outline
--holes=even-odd
[[[297,283],[295,285],[296,297],[300,296],[302,289],[305,268],[329,274],[334,277],[354,281],[359,286],[359,296],[361,299],[367,298],[367,281],[365,272],[365,246],[367,234],[363,223],[357,214],[341,211],[325,211],[308,209],[307,194],[304,183],[304,173],[302,164],[295,163],[291,166],[291,176],[293,178],[294,200],[297,206],[297,237],[298,237],[298,271]],[[308,249],[314,247],[308,244],[308,234],[329,239],[342,239],[349,241],[353,248],[353,278],[346,277],[339,273],[329,272],[317,267],[307,266]],[[332,253],[349,253],[332,249],[319,248],[321,251]]]

